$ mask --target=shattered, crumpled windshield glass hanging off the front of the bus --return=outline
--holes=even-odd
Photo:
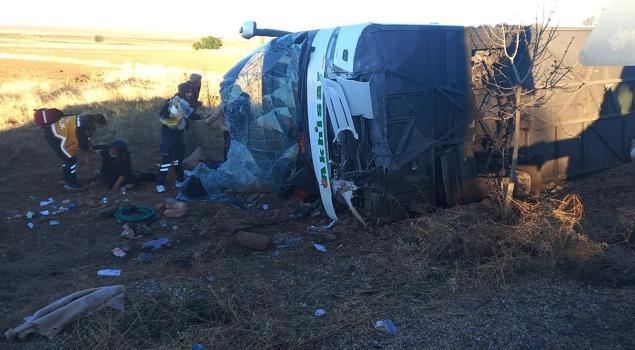
[[[299,61],[306,33],[276,38],[232,68],[221,83],[227,160],[194,174],[209,195],[278,191],[298,151]]]

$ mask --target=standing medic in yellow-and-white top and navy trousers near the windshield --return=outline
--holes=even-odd
[[[156,185],[158,193],[165,192],[165,179],[172,166],[176,172],[176,187],[180,188],[185,184],[183,173],[185,140],[183,130],[187,126],[188,118],[195,113],[195,107],[190,104],[193,98],[193,84],[189,81],[181,83],[176,95],[165,101],[161,112],[159,112],[159,121],[161,122],[161,164]]]

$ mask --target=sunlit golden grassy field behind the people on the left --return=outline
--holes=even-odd
[[[145,145],[158,144],[156,114],[179,83],[201,73],[199,100],[213,108],[223,74],[261,44],[225,41],[220,50],[195,51],[195,40],[120,34],[96,43],[82,33],[0,30],[0,146],[9,154],[38,152],[32,111],[55,107],[104,113],[104,141],[124,138],[148,151]]]

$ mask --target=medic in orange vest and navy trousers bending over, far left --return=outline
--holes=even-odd
[[[44,139],[62,160],[64,188],[69,191],[81,191],[84,187],[77,181],[77,154],[84,153],[84,164],[90,171],[90,138],[97,128],[106,125],[101,114],[84,114],[62,117],[44,128]]]

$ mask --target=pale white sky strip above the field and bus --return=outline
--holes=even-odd
[[[17,0],[0,25],[87,28],[146,33],[232,36],[244,21],[259,28],[300,31],[363,22],[477,25],[531,23],[555,9],[560,26],[580,26],[610,0]]]

